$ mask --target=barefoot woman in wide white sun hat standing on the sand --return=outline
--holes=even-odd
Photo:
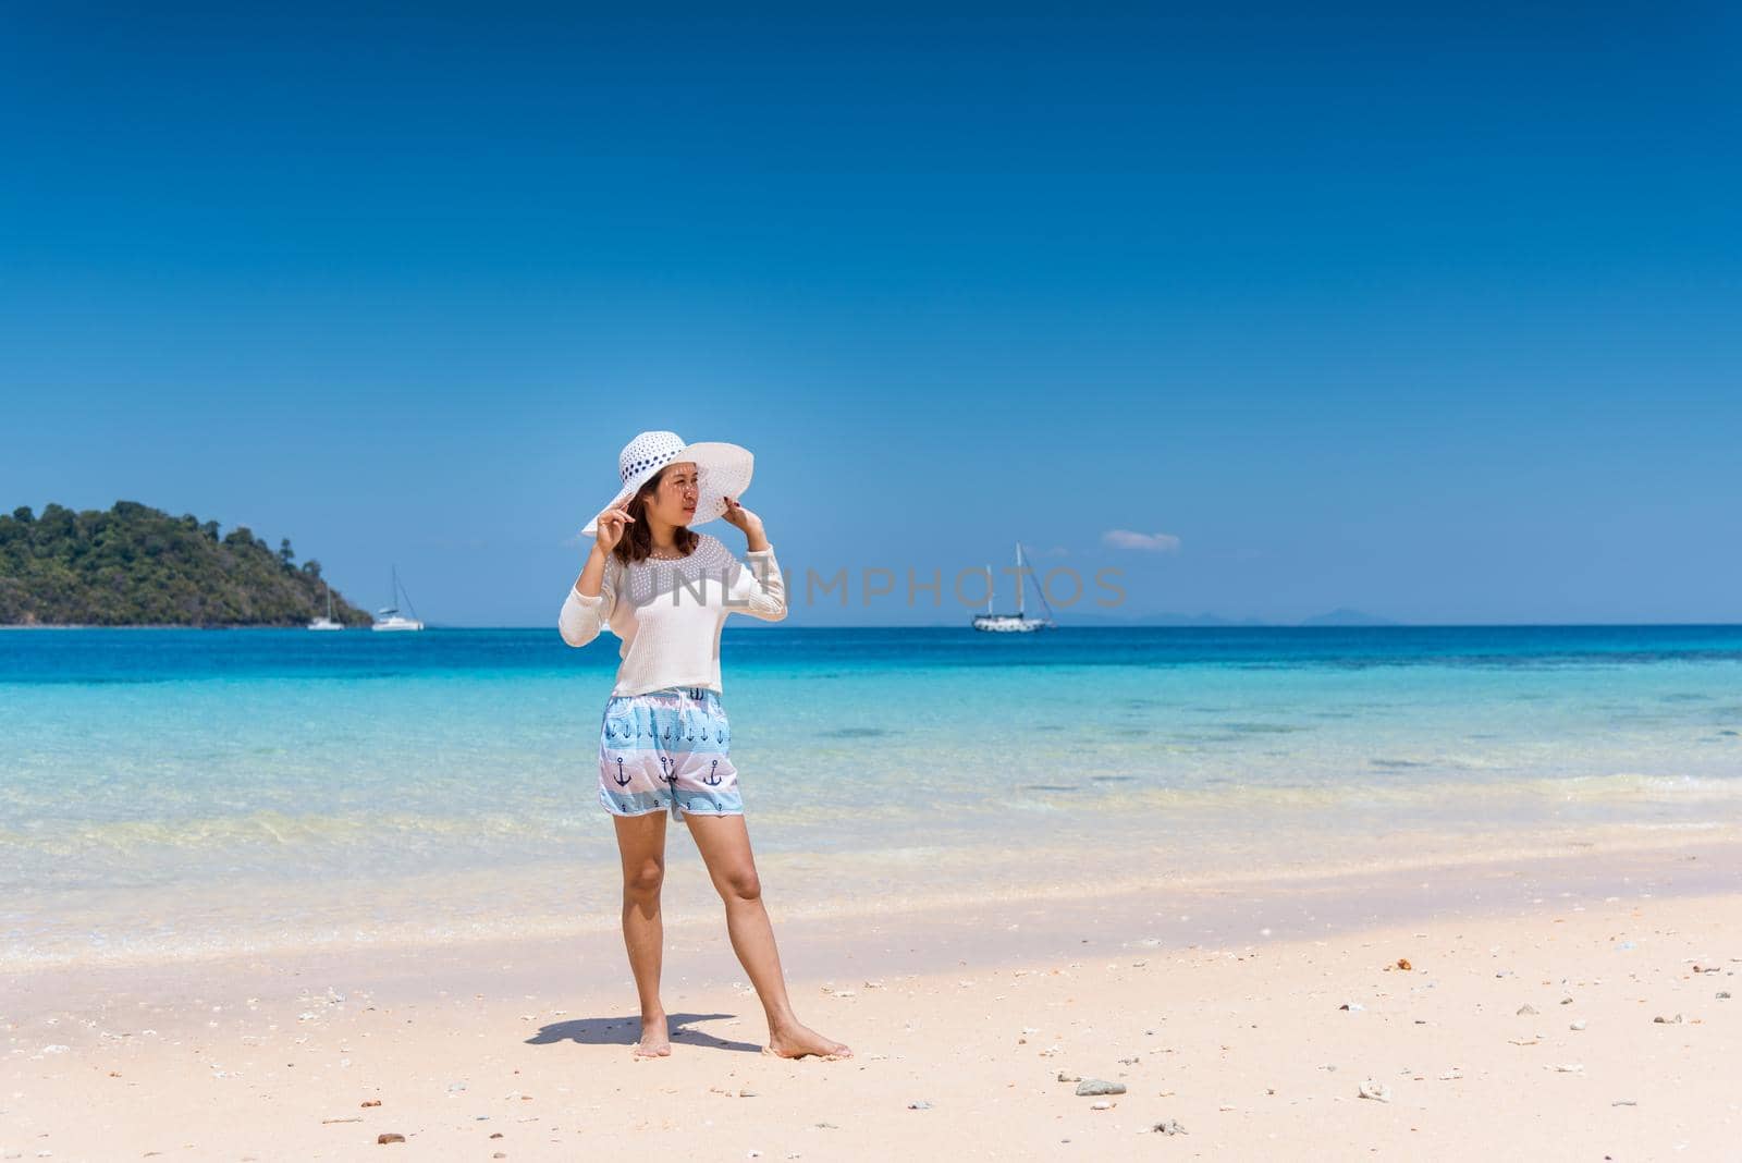
[[[622,489],[582,529],[592,552],[557,627],[585,646],[608,627],[622,639],[617,686],[599,736],[599,803],[617,827],[624,862],[624,944],[641,994],[638,1057],[665,1057],[671,1036],[658,998],[665,930],[665,811],[683,818],[726,904],[726,931],[768,1015],[763,1053],[852,1057],[800,1024],[786,996],[780,954],[761,902],[744,827],[730,724],[719,702],[719,632],[733,609],[779,622],[786,583],[761,519],[737,503],[751,454],[735,444],[685,444],[643,432],[617,461]],[[725,517],[749,541],[749,566],[690,526]]]

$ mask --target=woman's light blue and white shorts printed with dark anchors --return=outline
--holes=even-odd
[[[744,815],[732,726],[706,686],[611,695],[599,724],[599,803],[617,817]]]

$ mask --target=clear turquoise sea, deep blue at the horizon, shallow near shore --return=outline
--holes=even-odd
[[[615,648],[0,634],[0,966],[615,924]],[[730,627],[723,651],[794,909],[1742,820],[1742,627]]]

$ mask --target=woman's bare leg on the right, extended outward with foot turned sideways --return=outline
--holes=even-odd
[[[807,1053],[852,1057],[854,1052],[843,1043],[801,1025],[793,1013],[793,1003],[786,996],[786,977],[780,973],[780,952],[773,944],[773,926],[761,902],[761,881],[756,876],[756,858],[751,855],[751,836],[744,827],[744,817],[685,813],[683,818],[702,853],[702,864],[707,865],[707,876],[726,904],[732,949],[739,954],[768,1015],[768,1052],[782,1059],[801,1059]]]

